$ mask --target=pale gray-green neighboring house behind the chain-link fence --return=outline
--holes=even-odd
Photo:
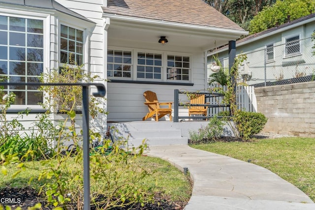
[[[315,13],[272,29],[252,34],[236,42],[236,55],[247,55],[240,67],[240,80],[255,87],[310,81],[315,74],[311,35],[315,31]],[[219,46],[217,46],[219,47]],[[213,56],[228,66],[228,47],[208,54],[208,75]],[[246,80],[247,79],[247,80]]]

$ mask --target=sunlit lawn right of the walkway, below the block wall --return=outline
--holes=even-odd
[[[251,142],[216,142],[191,145],[239,160],[251,160],[297,186],[315,201],[315,139],[278,138]]]

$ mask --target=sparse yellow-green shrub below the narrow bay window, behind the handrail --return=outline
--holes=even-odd
[[[52,69],[43,73],[39,78],[41,83],[93,83],[95,80],[102,80],[91,72],[86,72],[82,65],[77,65],[69,58],[69,64],[63,64],[60,69]],[[53,112],[66,114],[67,111],[82,111],[82,87],[80,86],[41,86],[39,90],[46,93],[46,103],[43,108],[51,109]],[[89,108],[90,115],[95,118],[98,114],[105,114],[101,108],[102,98],[91,95]]]

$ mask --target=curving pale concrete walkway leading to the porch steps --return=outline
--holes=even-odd
[[[252,163],[187,145],[150,147],[148,155],[188,168],[193,189],[185,210],[315,210],[297,187]]]

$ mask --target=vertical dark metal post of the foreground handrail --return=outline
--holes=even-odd
[[[89,125],[89,92],[87,86],[82,86],[83,114],[83,209],[90,210],[90,125]]]

